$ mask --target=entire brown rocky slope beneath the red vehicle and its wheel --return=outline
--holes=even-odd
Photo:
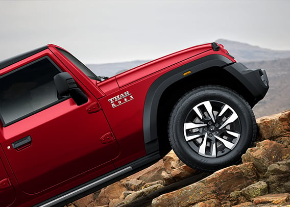
[[[261,117],[257,124],[257,143],[238,166],[200,173],[171,151],[151,167],[67,206],[290,206],[290,110]]]

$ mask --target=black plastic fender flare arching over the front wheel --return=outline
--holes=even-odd
[[[233,62],[225,56],[213,54],[177,67],[161,75],[153,82],[147,92],[143,111],[143,136],[147,154],[159,150],[157,136],[157,111],[160,97],[166,88],[183,79],[185,77],[183,73],[188,70],[191,71],[189,75],[193,75],[206,68],[214,66],[225,67],[230,64],[233,64]]]

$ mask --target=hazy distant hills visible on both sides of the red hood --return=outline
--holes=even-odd
[[[223,44],[238,62],[249,68],[263,68],[267,71],[270,89],[265,98],[254,107],[256,117],[275,114],[290,109],[290,51],[265,49],[230,40],[219,39],[216,42]],[[146,60],[131,62],[89,64],[93,72],[101,76],[113,76],[134,68]]]

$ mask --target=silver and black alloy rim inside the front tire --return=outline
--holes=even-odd
[[[208,158],[233,150],[241,131],[237,113],[224,102],[214,100],[194,106],[187,114],[183,130],[189,146]]]

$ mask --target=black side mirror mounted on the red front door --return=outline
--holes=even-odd
[[[56,74],[54,76],[54,83],[60,96],[70,95],[78,106],[85,104],[88,101],[86,94],[78,88],[76,81],[68,72]]]

